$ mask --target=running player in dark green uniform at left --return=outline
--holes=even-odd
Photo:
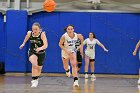
[[[32,31],[28,31],[22,45],[19,47],[22,49],[25,43],[30,40],[30,49],[28,51],[29,61],[32,63],[32,81],[31,87],[38,86],[38,78],[41,74],[43,62],[45,59],[45,49],[48,47],[48,41],[45,32],[41,31],[39,23],[32,25]]]

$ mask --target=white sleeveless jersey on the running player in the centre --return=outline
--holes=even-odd
[[[78,40],[77,33],[74,33],[74,38],[70,38],[67,32],[63,36],[65,37],[64,47],[69,51],[74,51],[75,43]]]

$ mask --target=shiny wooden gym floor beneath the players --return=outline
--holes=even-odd
[[[73,78],[64,74],[47,74],[39,79],[37,88],[30,87],[30,74],[6,74],[0,76],[0,93],[140,93],[138,76],[96,75],[79,79],[80,87],[73,87]]]

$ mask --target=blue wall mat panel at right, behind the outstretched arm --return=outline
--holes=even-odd
[[[138,60],[132,52],[137,42],[139,14],[92,13],[91,29],[109,49],[96,50],[96,73],[138,74]]]

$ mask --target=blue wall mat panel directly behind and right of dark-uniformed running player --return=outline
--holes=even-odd
[[[43,72],[58,72],[58,62],[60,61],[60,49],[59,42],[59,13],[46,13],[41,12],[29,16],[29,30],[31,30],[32,24],[39,22],[42,26],[42,30],[46,32],[48,39],[48,48],[46,49],[46,59],[43,65]],[[28,71],[31,70],[31,64],[28,64]]]

